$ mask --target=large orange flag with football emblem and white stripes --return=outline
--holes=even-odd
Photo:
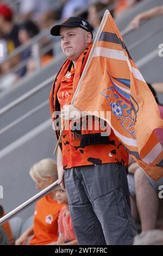
[[[163,150],[154,130],[163,129],[154,96],[108,17],[73,105],[107,119],[128,153],[154,180],[163,176]],[[163,130],[162,130],[163,132]]]

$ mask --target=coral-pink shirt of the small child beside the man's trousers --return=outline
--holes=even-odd
[[[63,233],[65,242],[76,240],[76,235],[72,227],[70,214],[66,215],[66,206],[62,208],[58,217],[58,233]]]

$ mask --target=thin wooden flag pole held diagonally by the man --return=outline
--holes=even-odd
[[[86,73],[86,71],[87,71],[87,69],[88,69],[88,67],[89,67],[89,65],[90,65],[90,63],[91,63],[92,56],[93,56],[93,52],[94,52],[94,50],[95,50],[97,41],[98,41],[99,36],[100,36],[100,34],[101,34],[102,30],[103,30],[103,27],[104,27],[104,25],[105,25],[105,22],[106,22],[106,20],[108,19],[108,15],[109,15],[109,14],[110,14],[109,10],[105,10],[105,13],[104,13],[104,15],[103,15],[103,19],[102,19],[102,21],[101,21],[101,24],[99,25],[99,28],[98,28],[98,31],[97,31],[97,34],[96,34],[95,41],[93,42],[93,45],[92,45],[92,48],[91,48],[89,57],[87,58],[87,62],[86,62],[86,64],[85,64],[85,67],[84,67],[82,76],[80,77],[80,80],[79,80],[79,83],[78,83],[76,92],[75,92],[74,95],[73,95],[73,98],[72,98],[72,101],[71,101],[70,105],[73,105],[74,101],[76,100],[76,97],[77,97],[77,95],[78,95],[78,93],[79,93],[80,86],[81,86],[81,84],[82,84],[82,81],[83,81],[83,78],[84,78],[84,76],[85,76],[85,73]],[[64,126],[63,126],[63,128],[62,128],[62,130],[61,130],[61,132],[60,132],[60,136],[59,136],[58,142],[57,142],[57,144],[56,144],[56,146],[55,146],[53,155],[55,155],[55,154],[57,153],[58,146],[59,146],[59,143],[60,143],[60,141],[61,141],[62,134],[63,134],[63,132],[64,132],[64,130],[65,130],[65,126],[66,126],[66,124],[67,124],[67,121],[68,121],[68,120],[65,121],[65,124],[64,124]]]

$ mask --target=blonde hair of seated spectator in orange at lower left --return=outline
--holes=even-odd
[[[35,182],[37,182],[38,179],[46,181],[49,175],[54,176],[55,180],[57,180],[57,163],[52,159],[42,159],[30,168],[29,175]]]

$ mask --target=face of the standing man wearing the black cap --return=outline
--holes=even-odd
[[[82,28],[60,28],[61,48],[66,57],[77,61],[91,42],[91,33]]]

